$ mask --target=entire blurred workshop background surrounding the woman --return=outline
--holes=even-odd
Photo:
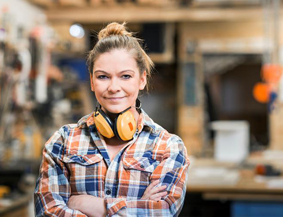
[[[180,216],[283,217],[281,0],[0,0],[0,216],[34,216],[44,144],[94,110],[86,53],[113,21],[156,64],[143,109],[188,149]]]

